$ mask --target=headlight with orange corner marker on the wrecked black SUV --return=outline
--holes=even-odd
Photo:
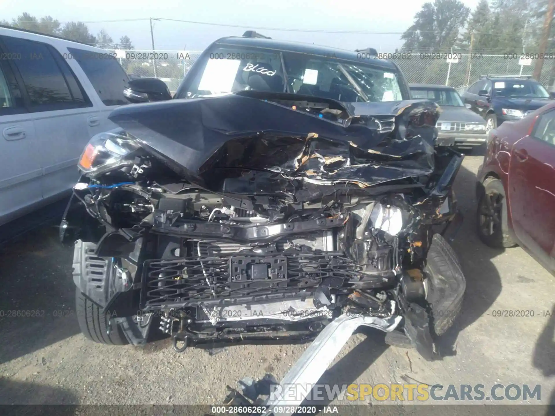
[[[87,176],[95,177],[107,170],[132,164],[125,157],[140,148],[136,140],[123,130],[94,135],[79,158],[78,167]]]

